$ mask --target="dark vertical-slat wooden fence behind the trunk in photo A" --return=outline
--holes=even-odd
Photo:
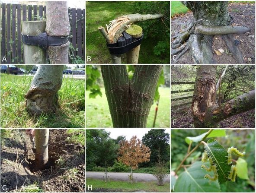
[[[46,6],[2,3],[1,14],[1,63],[24,63],[22,22],[45,19]],[[68,15],[71,27],[68,40],[73,47],[69,63],[72,63],[77,56],[85,60],[85,9],[68,9]],[[3,57],[7,62],[2,62]]]

